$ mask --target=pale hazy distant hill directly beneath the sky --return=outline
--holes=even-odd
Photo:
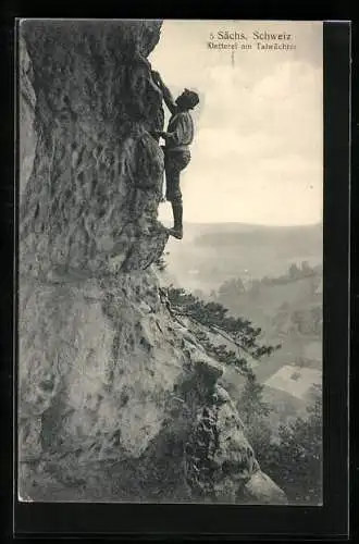
[[[171,239],[168,273],[190,290],[210,292],[225,280],[282,274],[292,262],[322,260],[322,225],[262,226],[244,223],[185,224]]]

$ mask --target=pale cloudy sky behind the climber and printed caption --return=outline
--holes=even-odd
[[[292,51],[208,49],[218,30],[286,32]],[[286,41],[289,42],[289,41]],[[184,220],[321,221],[322,24],[165,21],[149,60],[174,94],[199,91],[193,160],[182,176]],[[161,205],[161,218],[171,218]]]

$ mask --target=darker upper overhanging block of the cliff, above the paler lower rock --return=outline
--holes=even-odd
[[[157,210],[163,153],[149,134],[161,92],[145,57],[159,26],[21,26],[24,65],[25,49],[32,64],[22,83],[22,108],[23,97],[34,102],[35,94],[37,133],[22,197],[24,272],[45,277],[79,269],[103,275],[144,269],[162,254],[168,235]]]

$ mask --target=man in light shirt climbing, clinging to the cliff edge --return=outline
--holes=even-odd
[[[199,103],[197,92],[185,89],[176,100],[171,91],[164,85],[160,74],[152,72],[154,83],[160,87],[163,94],[163,100],[171,112],[166,132],[158,132],[165,146],[164,151],[164,171],[166,185],[166,199],[172,205],[173,228],[170,234],[177,239],[183,238],[183,203],[180,187],[180,174],[190,161],[189,146],[194,139],[194,122],[189,110],[193,110]]]

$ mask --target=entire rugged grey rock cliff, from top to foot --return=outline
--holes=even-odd
[[[153,263],[161,23],[20,28],[22,499],[285,503]]]

